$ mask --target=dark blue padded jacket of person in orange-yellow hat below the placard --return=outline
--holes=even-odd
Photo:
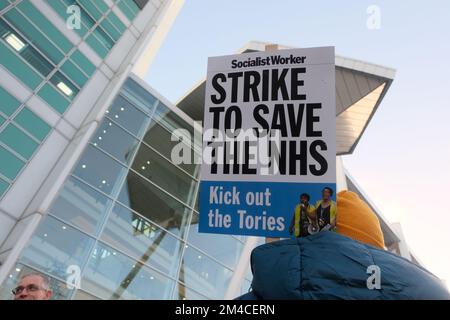
[[[250,263],[252,291],[239,300],[450,299],[424,268],[334,232],[261,245]],[[370,265],[380,268],[380,289],[368,289]]]

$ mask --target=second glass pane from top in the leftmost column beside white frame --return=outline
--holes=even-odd
[[[139,137],[139,133],[148,123],[149,117],[136,109],[127,99],[118,95],[106,115],[128,131]]]

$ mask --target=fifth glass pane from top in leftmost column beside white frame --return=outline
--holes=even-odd
[[[89,234],[97,234],[111,200],[83,182],[69,178],[49,211]]]

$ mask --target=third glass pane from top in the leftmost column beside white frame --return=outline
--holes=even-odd
[[[133,160],[139,145],[136,138],[108,119],[102,122],[91,141],[125,164]]]

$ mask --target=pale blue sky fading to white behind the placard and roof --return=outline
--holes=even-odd
[[[369,29],[369,6],[380,28]],[[208,56],[250,40],[336,53],[397,75],[344,165],[414,254],[450,285],[450,1],[186,0],[146,80],[177,101]]]

